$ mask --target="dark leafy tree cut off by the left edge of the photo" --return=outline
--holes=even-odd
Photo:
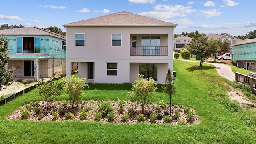
[[[9,41],[4,35],[0,36],[0,91],[10,86],[10,82],[13,80],[14,68],[8,69],[10,61]]]

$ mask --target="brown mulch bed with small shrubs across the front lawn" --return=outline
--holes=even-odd
[[[38,102],[32,102],[30,104],[24,105],[21,108],[19,108],[18,110],[16,110],[13,114],[11,114],[10,116],[7,116],[7,119],[9,120],[15,120],[15,119],[21,119],[21,113],[22,111],[24,111],[25,109],[27,109],[28,107],[30,107],[30,116],[28,118],[28,120],[33,120],[33,121],[64,121],[66,120],[64,115],[60,115],[57,118],[54,119],[52,112],[53,111],[58,111],[60,110],[60,108],[62,109],[63,112],[63,108],[64,108],[64,112],[72,112],[74,114],[74,118],[72,120],[80,120],[79,118],[79,112],[80,110],[87,110],[88,111],[88,116],[86,117],[85,120],[82,121],[88,121],[88,122],[93,122],[93,121],[100,121],[100,122],[108,122],[108,118],[102,118],[100,120],[95,120],[95,113],[99,111],[99,106],[97,104],[97,101],[91,100],[91,101],[81,101],[76,103],[75,108],[71,107],[70,103],[66,103],[66,102],[61,102],[61,101],[56,101],[56,102],[52,102],[49,106],[49,108],[47,108],[46,106],[46,101],[38,101]],[[142,112],[140,103],[137,102],[130,102],[130,101],[126,101],[126,104],[123,108],[122,111],[120,111],[120,107],[118,106],[118,104],[115,101],[110,101],[110,106],[112,108],[114,108],[113,112],[115,114],[114,120],[112,121],[112,123],[129,123],[129,124],[135,124],[138,123],[137,120],[137,115],[138,114],[143,114],[145,117],[145,122],[146,123],[150,123],[150,114],[157,114],[158,118],[156,119],[156,124],[165,124],[164,122],[164,115],[169,114],[168,112],[170,112],[170,105],[166,105],[164,107],[161,107],[160,104],[156,104],[156,103],[150,103],[147,104],[144,107],[144,112]],[[34,112],[35,108],[40,108],[40,113],[43,114],[43,117],[39,118],[38,114],[36,114]],[[192,117],[192,119],[187,118],[186,112],[189,110],[190,112],[192,112],[194,114],[194,116]],[[61,112],[61,113],[62,113]],[[176,118],[176,112],[179,112],[179,118]],[[61,114],[59,112],[59,114]],[[62,113],[63,114],[63,113]],[[122,114],[129,114],[129,118],[126,121],[122,120]],[[195,110],[193,110],[192,108],[185,108],[183,106],[179,106],[179,105],[174,105],[172,106],[172,114],[170,115],[172,117],[172,121],[168,124],[178,124],[178,123],[182,123],[181,120],[183,120],[182,124],[185,125],[190,125],[190,124],[199,124],[201,122],[201,120],[198,118],[198,115],[196,114]]]

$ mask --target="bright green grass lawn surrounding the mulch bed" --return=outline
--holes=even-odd
[[[141,143],[255,143],[256,112],[240,110],[234,112],[233,104],[227,96],[228,80],[218,76],[213,65],[174,60],[177,72],[177,94],[174,103],[190,106],[196,110],[200,124],[184,126],[171,124],[112,124],[81,121],[34,122],[29,120],[6,120],[6,116],[23,104],[41,100],[38,89],[20,96],[4,106],[0,106],[0,143],[1,144],[42,144],[42,143],[93,143],[141,144]],[[117,100],[127,98],[131,84],[89,84],[83,100]],[[158,85],[157,97],[166,102],[168,96]],[[64,100],[66,94],[58,99]],[[223,101],[226,103],[223,104]]]

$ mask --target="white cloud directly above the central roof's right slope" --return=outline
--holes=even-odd
[[[138,15],[141,16],[146,16],[158,20],[166,20],[168,18],[172,18],[175,16],[186,16],[186,14],[178,14],[178,13],[173,13],[173,12],[158,12],[158,11],[150,11],[150,12],[142,12],[139,13]]]

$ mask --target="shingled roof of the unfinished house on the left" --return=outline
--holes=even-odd
[[[54,36],[61,39],[66,39],[66,36],[61,34],[56,34],[48,30],[38,28],[38,27],[25,27],[25,28],[10,28],[0,30],[0,34],[4,35],[36,35],[36,36]]]

